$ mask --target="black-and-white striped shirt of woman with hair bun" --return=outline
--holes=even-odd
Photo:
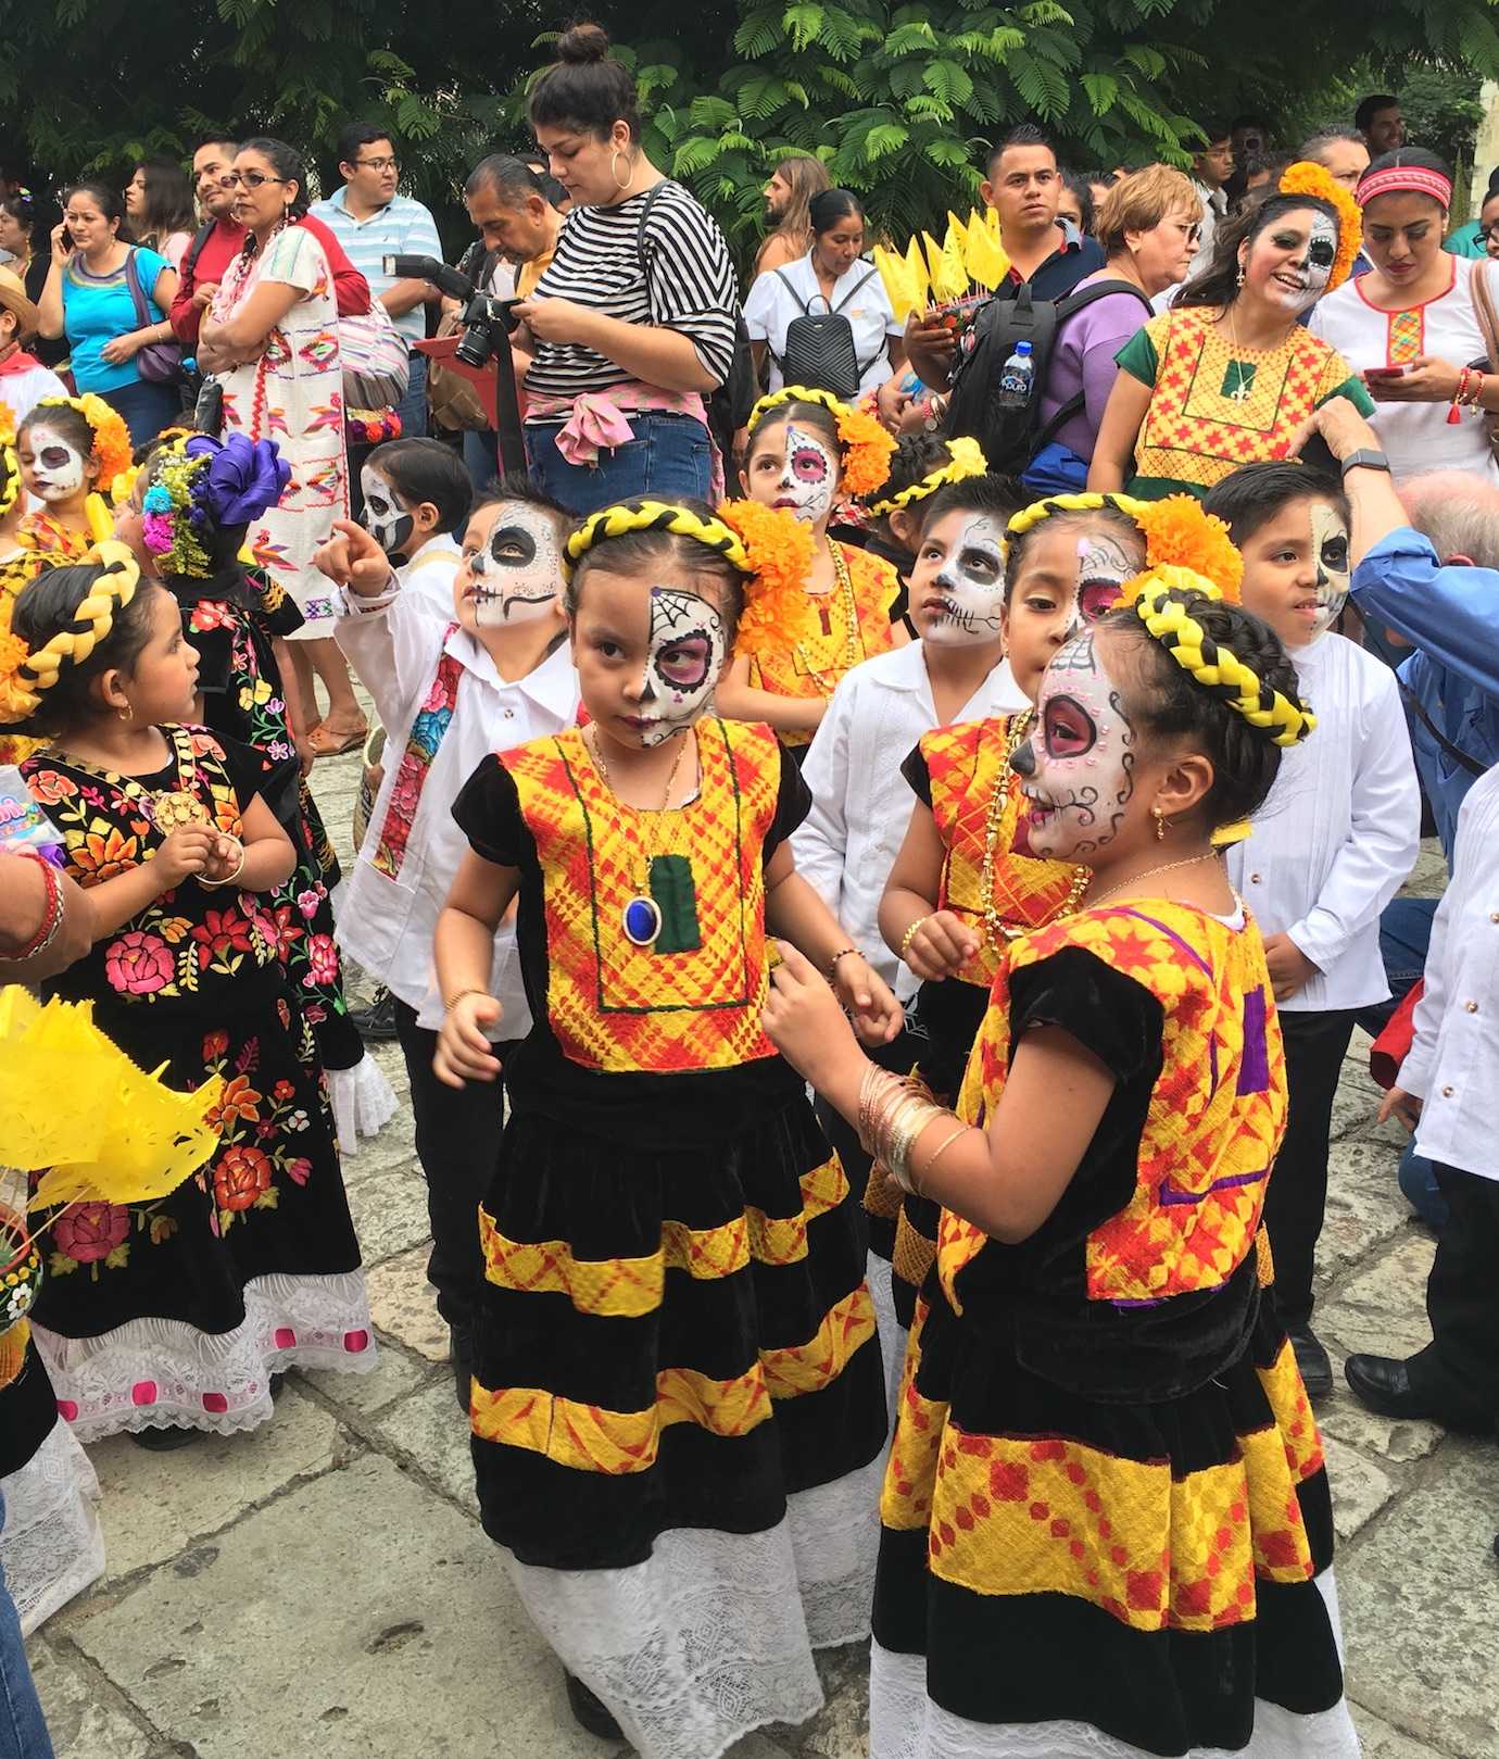
[[[739,287],[718,223],[679,185],[667,183],[614,208],[574,208],[535,299],[572,299],[625,324],[681,331],[718,383],[734,359]],[[644,260],[642,260],[644,259]],[[623,366],[577,343],[538,341],[526,390],[577,398],[633,378]]]

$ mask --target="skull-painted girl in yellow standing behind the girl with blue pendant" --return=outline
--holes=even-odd
[[[792,387],[762,398],[750,417],[744,491],[811,526],[816,540],[802,582],[799,630],[760,651],[741,653],[718,691],[723,714],[764,721],[801,762],[822,723],[837,681],[860,660],[901,647],[904,624],[892,624],[901,580],[888,561],[827,535],[845,494],[885,480],[894,440],[867,415],[825,390]]]

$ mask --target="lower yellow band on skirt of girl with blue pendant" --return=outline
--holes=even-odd
[[[772,1400],[830,1386],[871,1337],[874,1309],[860,1284],[829,1310],[806,1344],[760,1351],[760,1360],[734,1381],[714,1381],[695,1369],[662,1369],[656,1402],[646,1411],[607,1411],[537,1386],[489,1391],[475,1381],[473,1434],[582,1472],[644,1472],[654,1465],[662,1430],[672,1423],[697,1423],[713,1435],[748,1435],[771,1416]]]

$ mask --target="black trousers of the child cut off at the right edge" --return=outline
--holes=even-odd
[[[1499,1423],[1499,1180],[1432,1163],[1451,1210],[1427,1281],[1432,1340],[1406,1365],[1448,1428]]]

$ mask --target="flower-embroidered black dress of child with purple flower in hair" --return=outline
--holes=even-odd
[[[297,851],[292,878],[269,895],[273,943],[303,994],[324,1068],[352,1069],[364,1045],[348,1018],[333,939],[338,857],[303,777],[273,646],[303,626],[303,614],[259,570],[236,566],[211,580],[172,575],[165,584],[197,651],[202,718],[220,739],[253,753],[257,788]]]

